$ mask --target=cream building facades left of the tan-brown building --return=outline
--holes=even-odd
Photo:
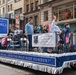
[[[24,28],[24,1],[25,0],[0,0],[0,17],[9,19],[11,29],[14,29],[15,27],[16,16],[19,16],[20,18],[20,29]]]

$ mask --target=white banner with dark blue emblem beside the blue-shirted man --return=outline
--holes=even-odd
[[[34,34],[32,36],[32,46],[33,47],[55,47],[56,46],[55,33]]]

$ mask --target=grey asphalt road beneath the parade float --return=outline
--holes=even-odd
[[[14,65],[0,63],[0,75],[51,75]],[[76,70],[65,69],[61,75],[76,75]]]

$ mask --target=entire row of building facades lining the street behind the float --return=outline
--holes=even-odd
[[[65,19],[67,11],[70,17]],[[53,14],[61,28],[67,22],[72,31],[76,29],[76,0],[0,0],[0,17],[8,18],[11,28],[15,27],[16,16],[20,16],[20,29],[24,29],[29,18],[36,26],[51,24]]]

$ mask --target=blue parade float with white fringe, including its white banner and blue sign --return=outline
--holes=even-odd
[[[4,22],[3,22],[4,21]],[[3,23],[3,24],[2,24]],[[5,24],[4,24],[5,23]],[[7,26],[6,35],[8,34],[8,20],[0,19],[0,27]],[[5,27],[4,26],[4,27]],[[1,29],[1,28],[0,28]],[[0,30],[2,35],[3,30]],[[73,37],[73,44],[76,44],[76,37]],[[45,33],[45,34],[34,34],[32,36],[32,46],[33,47],[56,47],[56,35],[55,33]],[[64,68],[75,68],[76,66],[76,52],[67,53],[44,53],[44,52],[32,52],[26,51],[16,51],[11,50],[0,50],[0,61],[4,63],[9,63],[13,65],[18,65],[26,68],[30,68],[37,71],[47,72],[50,74],[61,74]]]

